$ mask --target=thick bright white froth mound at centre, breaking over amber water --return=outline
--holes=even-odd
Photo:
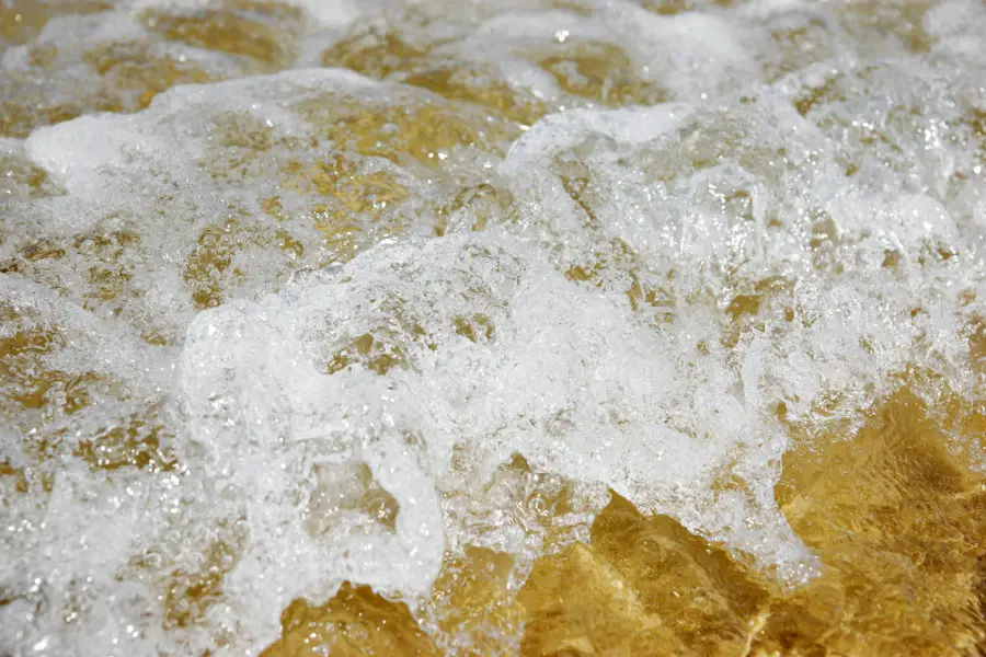
[[[489,321],[490,339],[456,332],[458,319],[475,314]],[[415,338],[412,325],[427,337]],[[392,341],[406,369],[325,373],[326,355],[365,333]],[[328,575],[427,590],[444,533],[463,530],[436,503],[454,448],[477,459],[479,482],[519,453],[784,573],[810,565],[770,494],[782,436],[730,394],[729,372],[677,349],[519,244],[449,238],[380,247],[256,306],[203,313],[186,338],[181,389],[199,466],[219,498],[245,505],[255,541],[248,554],[279,587],[252,591],[264,601],[310,595]],[[688,382],[696,369],[698,389]],[[306,537],[291,502],[306,472],[347,461],[367,464],[400,505],[395,534],[363,537],[359,550],[345,531]],[[753,498],[710,491],[734,463],[744,464]],[[321,578],[298,577],[316,563]]]

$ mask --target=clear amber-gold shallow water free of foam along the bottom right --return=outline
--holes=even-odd
[[[947,415],[942,416],[941,414]],[[907,392],[857,435],[784,458],[777,497],[822,557],[822,576],[783,590],[664,516],[614,495],[588,544],[535,564],[516,600],[509,556],[450,561],[434,604],[461,654],[525,656],[976,655],[986,649],[986,477],[942,448],[942,429],[984,436],[982,410],[931,410]],[[366,587],[296,601],[266,656],[442,655],[406,607]]]

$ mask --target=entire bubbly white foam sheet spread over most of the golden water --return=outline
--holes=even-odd
[[[316,68],[177,87],[140,113],[0,143],[14,181],[0,187],[0,311],[14,313],[0,336],[57,335],[19,367],[96,380],[74,413],[0,405],[0,459],[54,482],[19,493],[0,477],[0,585],[14,598],[0,652],[256,654],[291,599],[322,601],[345,579],[416,609],[446,552],[468,545],[512,553],[523,577],[548,533],[525,499],[549,474],[575,491],[551,520],[573,538],[612,488],[798,583],[817,564],[773,499],[781,404],[811,436],[859,425],[908,368],[982,395],[967,339],[986,312],[982,7],[931,9],[930,51],[914,53],[825,4],[662,16],[609,1],[589,18],[521,4],[424,2],[420,16],[455,23],[435,27],[397,4],[360,19],[413,24],[423,43],[451,39],[438,59],[493,64],[549,106],[574,103],[505,159],[484,143],[437,166],[347,150],[325,137],[341,99],[437,104],[477,130],[493,112]],[[44,89],[88,97],[68,81],[73,54],[142,38],[133,16],[147,7],[50,23],[33,42],[64,46]],[[303,31],[324,30],[306,45],[318,61],[319,39],[377,4],[306,7],[322,23]],[[811,53],[782,37],[802,25]],[[621,47],[675,102],[564,96],[528,59],[562,33]],[[11,76],[45,70],[11,53]],[[359,253],[344,264],[321,232],[336,219],[313,209],[342,193],[286,175],[336,158],[358,172],[341,184],[385,173],[408,197],[347,215]],[[31,165],[43,188],[24,182]],[[438,207],[452,208],[446,237],[422,239]],[[301,247],[286,253],[282,230]],[[186,278],[210,239],[226,241],[196,276],[222,304],[200,311],[202,281]],[[746,314],[743,296],[758,299]],[[79,457],[134,417],[177,465]],[[534,473],[507,469],[515,454]],[[397,515],[375,516],[372,496]],[[182,591],[210,567],[215,590],[179,626]]]

